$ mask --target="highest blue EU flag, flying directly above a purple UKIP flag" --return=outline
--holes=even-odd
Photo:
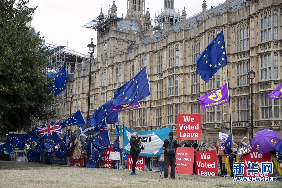
[[[208,82],[218,69],[227,65],[223,30],[208,44],[205,50],[195,60],[197,62],[196,73]]]

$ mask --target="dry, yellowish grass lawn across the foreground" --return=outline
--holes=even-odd
[[[52,164],[0,161],[0,187],[282,187],[281,181],[233,182],[231,178],[180,175],[160,178],[159,172],[93,169]],[[175,177],[178,177],[177,175]]]

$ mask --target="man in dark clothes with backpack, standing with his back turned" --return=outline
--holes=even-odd
[[[175,139],[173,139],[173,133],[170,132],[169,133],[169,139],[166,139],[163,145],[163,148],[165,150],[165,172],[164,172],[164,178],[168,177],[168,166],[170,163],[170,175],[172,179],[175,179],[175,153],[177,150],[177,141]],[[169,155],[169,153],[167,152],[167,148],[169,147],[170,142],[173,142],[173,147],[175,149],[174,153]]]

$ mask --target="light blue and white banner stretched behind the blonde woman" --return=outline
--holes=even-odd
[[[137,132],[138,137],[144,140],[140,146],[141,152],[139,156],[150,157],[164,153],[163,144],[168,139],[168,133],[171,132],[171,127],[152,131],[134,131],[123,125],[123,152],[125,153],[130,153],[129,139],[134,132]]]

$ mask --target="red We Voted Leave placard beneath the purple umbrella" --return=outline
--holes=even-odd
[[[252,162],[258,162],[259,163],[259,172],[255,172],[253,174],[251,174],[250,172],[247,172],[248,170],[248,163],[252,163]],[[244,177],[271,177],[271,174],[268,173],[264,173],[261,174],[261,163],[265,163],[265,162],[269,162],[271,163],[271,156],[269,154],[269,152],[261,154],[259,152],[253,151],[251,153],[247,153],[243,155],[243,163],[244,163]]]

